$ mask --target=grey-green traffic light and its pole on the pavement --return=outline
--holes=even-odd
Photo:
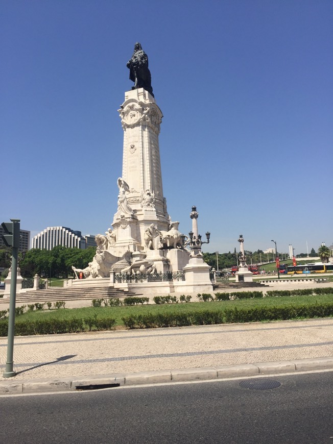
[[[7,246],[12,246],[12,266],[10,280],[10,300],[8,315],[8,346],[6,369],[3,373],[4,378],[11,378],[16,375],[13,370],[13,354],[14,354],[14,332],[15,332],[15,302],[16,302],[16,282],[17,282],[17,258],[19,248],[19,230],[20,219],[10,219],[10,222],[4,222],[2,225],[5,233],[3,240]]]

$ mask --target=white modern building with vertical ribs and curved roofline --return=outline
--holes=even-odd
[[[47,227],[32,239],[32,248],[52,250],[56,245],[84,250],[86,239],[81,231],[74,231],[67,227]]]

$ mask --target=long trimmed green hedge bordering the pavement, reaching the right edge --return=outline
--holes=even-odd
[[[127,328],[185,327],[333,316],[333,302],[281,307],[227,308],[182,313],[147,313],[122,317]]]

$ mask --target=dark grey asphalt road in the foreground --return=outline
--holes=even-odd
[[[0,442],[333,443],[333,373],[0,399]]]

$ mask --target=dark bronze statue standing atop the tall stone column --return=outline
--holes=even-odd
[[[148,68],[148,56],[139,42],[134,45],[134,53],[126,65],[130,70],[130,80],[134,82],[132,89],[144,88],[153,97],[152,77]]]

